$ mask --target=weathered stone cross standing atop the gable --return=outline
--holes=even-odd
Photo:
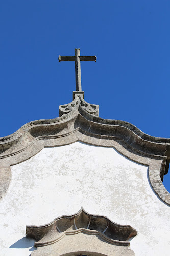
[[[75,61],[76,91],[82,91],[80,61],[95,61],[96,56],[80,56],[80,49],[75,49],[75,56],[59,56],[59,62]]]

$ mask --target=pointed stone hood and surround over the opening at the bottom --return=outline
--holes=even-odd
[[[35,247],[38,250],[33,251],[32,256],[65,253],[134,255],[128,249],[128,239],[137,235],[130,225],[119,225],[105,216],[88,214],[83,208],[74,215],[61,216],[43,226],[26,226],[26,233],[27,237],[37,241]]]

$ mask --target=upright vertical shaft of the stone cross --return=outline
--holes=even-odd
[[[76,91],[82,91],[81,66],[80,66],[80,49],[75,49],[75,74],[76,74]]]

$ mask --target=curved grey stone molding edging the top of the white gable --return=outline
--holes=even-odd
[[[170,194],[162,184],[163,176],[168,172],[170,139],[152,137],[125,121],[101,119],[78,105],[61,117],[29,122],[15,133],[0,138],[0,198],[8,189],[11,165],[29,159],[44,147],[80,141],[114,147],[128,159],[149,166],[152,188],[170,205]]]

